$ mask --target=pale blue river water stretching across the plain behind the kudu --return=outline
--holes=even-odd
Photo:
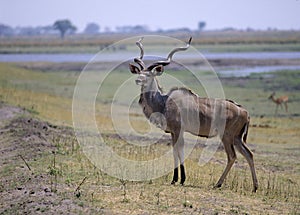
[[[242,53],[203,53],[204,57],[210,59],[300,59],[300,52],[242,52]],[[79,54],[0,54],[0,62],[86,62],[91,61],[96,55],[89,53]],[[98,62],[114,62],[120,59],[131,59],[136,52],[111,52],[97,58]],[[181,59],[193,59],[195,55],[181,54]],[[258,67],[216,68],[222,76],[248,76],[251,73],[271,72],[278,70],[298,70],[300,65],[277,65]]]

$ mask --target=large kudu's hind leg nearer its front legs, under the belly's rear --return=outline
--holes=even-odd
[[[227,154],[227,165],[226,168],[221,175],[218,183],[214,186],[215,188],[221,187],[229,170],[231,169],[232,165],[234,164],[234,161],[236,160],[236,153],[233,147],[233,139],[232,138],[223,138],[222,140],[225,152]]]

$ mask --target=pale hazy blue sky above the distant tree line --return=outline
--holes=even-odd
[[[70,19],[82,31],[97,23],[101,31],[146,25],[150,30],[234,27],[300,30],[300,0],[2,0],[0,23],[12,27],[52,25]]]

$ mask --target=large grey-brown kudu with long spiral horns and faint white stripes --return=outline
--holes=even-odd
[[[172,184],[178,181],[178,164],[181,175],[180,183],[183,185],[185,182],[183,133],[189,132],[207,138],[219,135],[222,140],[228,160],[215,187],[222,185],[234,164],[236,148],[250,166],[253,191],[255,192],[258,182],[253,155],[245,145],[250,120],[247,110],[230,100],[200,98],[184,87],[173,88],[168,94],[163,94],[156,80],[156,76],[163,73],[164,66],[170,64],[176,52],[188,49],[191,39],[185,47],[173,49],[166,60],[154,62],[148,67],[142,60],[144,50],[142,39],[140,39],[136,42],[140,48],[140,57],[134,58],[134,64],[129,64],[130,71],[138,74],[136,84],[141,85],[139,104],[142,106],[145,116],[165,132],[171,133],[174,156]]]

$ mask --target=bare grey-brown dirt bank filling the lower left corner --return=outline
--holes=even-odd
[[[73,130],[33,118],[26,110],[0,103],[0,214],[97,213],[82,206],[74,194],[62,196],[51,190],[47,166],[32,169],[43,155],[55,150],[53,139],[73,135]],[[66,184],[57,185],[67,190]]]

